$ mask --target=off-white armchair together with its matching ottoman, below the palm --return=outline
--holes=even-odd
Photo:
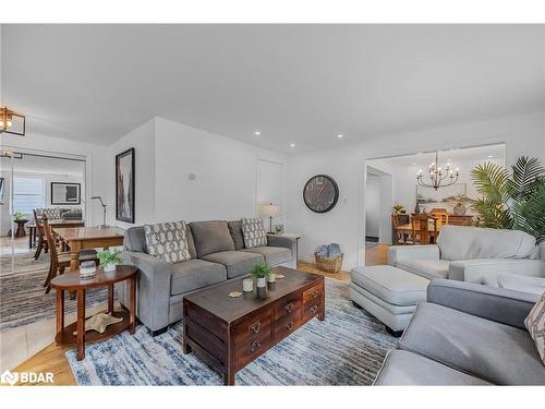
[[[351,272],[350,298],[401,335],[431,280],[451,279],[541,294],[545,243],[516,230],[444,226],[437,244],[392,245],[389,266]]]

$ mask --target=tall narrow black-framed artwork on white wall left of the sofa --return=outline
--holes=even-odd
[[[116,219],[134,222],[134,147],[116,155]]]

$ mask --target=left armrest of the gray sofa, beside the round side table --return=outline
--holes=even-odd
[[[123,262],[140,269],[136,286],[138,320],[152,330],[166,327],[169,324],[171,265],[149,254],[133,251],[123,252]]]

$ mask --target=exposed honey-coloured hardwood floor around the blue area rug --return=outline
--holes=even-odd
[[[367,249],[366,264],[385,264],[388,246],[385,244],[377,244]],[[328,278],[338,279],[341,281],[350,281],[349,272],[339,272],[337,274],[329,274],[320,272],[314,264],[299,262],[298,268],[304,272],[320,274]],[[27,359],[22,364],[17,365],[14,372],[51,372],[53,374],[53,385],[75,385],[72,370],[64,356],[66,348],[58,347],[55,342],[50,344],[34,357]],[[35,385],[35,384],[32,384]],[[50,385],[50,384],[44,384]]]

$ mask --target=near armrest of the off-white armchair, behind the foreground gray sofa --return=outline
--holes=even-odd
[[[545,263],[530,258],[475,258],[449,264],[448,278],[498,287],[498,274],[545,277]]]

